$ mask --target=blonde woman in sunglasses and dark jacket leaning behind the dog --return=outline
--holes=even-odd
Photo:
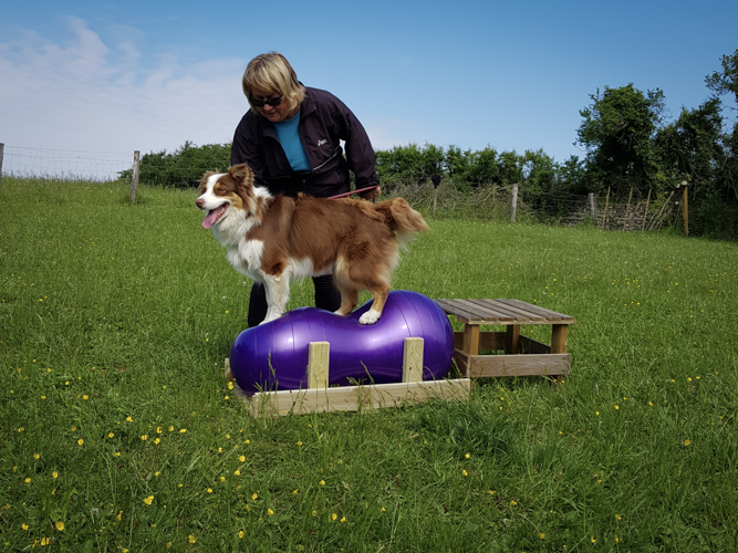
[[[273,195],[297,197],[303,192],[330,198],[350,191],[350,171],[356,189],[373,200],[380,192],[374,149],[366,131],[343,102],[326,91],[303,86],[287,59],[277,52],[249,62],[241,80],[251,108],[236,127],[230,163],[246,163],[256,184]],[[346,155],[343,156],[341,140]],[[336,311],[341,293],[333,276],[313,279],[315,306]],[[249,326],[267,316],[263,285],[253,283],[249,300]]]

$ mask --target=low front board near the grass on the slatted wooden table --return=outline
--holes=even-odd
[[[490,376],[568,375],[570,354],[548,355],[477,355],[469,357],[469,375]]]

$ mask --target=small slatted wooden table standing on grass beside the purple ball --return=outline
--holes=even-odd
[[[454,358],[466,377],[568,375],[571,354],[567,353],[569,325],[573,316],[539,307],[520,300],[436,300],[449,315],[464,323],[454,333]],[[520,335],[524,324],[550,325],[551,345]],[[502,325],[505,332],[481,332],[481,325]],[[503,349],[503,355],[480,355],[480,351]]]

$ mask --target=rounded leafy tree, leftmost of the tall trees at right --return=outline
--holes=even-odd
[[[664,93],[644,94],[633,83],[591,94],[592,104],[580,111],[584,122],[576,132],[586,148],[588,179],[592,188],[642,191],[656,184],[658,173],[652,138],[662,122]]]

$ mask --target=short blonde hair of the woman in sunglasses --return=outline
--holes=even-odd
[[[243,72],[241,86],[249,104],[253,90],[282,96],[290,111],[300,105],[305,97],[305,87],[298,81],[290,62],[279,52],[257,55],[251,60]]]

